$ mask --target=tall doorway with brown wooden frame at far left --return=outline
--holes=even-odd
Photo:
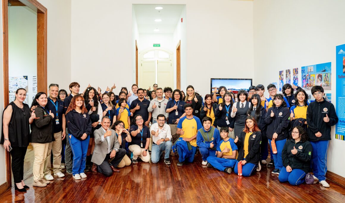
[[[9,12],[14,12],[14,13],[9,13]],[[33,38],[36,39],[36,42],[34,42],[34,44],[31,44],[32,45],[31,48],[34,47],[33,48],[34,56],[31,56],[31,55],[29,56],[29,58],[34,58],[34,59],[31,59],[31,62],[30,62],[31,65],[32,63],[34,63],[34,66],[31,67],[30,69],[32,73],[31,77],[29,77],[29,74],[21,74],[18,76],[12,75],[12,73],[16,74],[20,72],[20,70],[18,70],[18,67],[20,66],[20,64],[14,64],[13,62],[11,62],[13,61],[12,58],[16,58],[16,56],[13,56],[13,53],[20,54],[20,51],[16,51],[16,50],[13,51],[11,49],[16,47],[16,45],[18,45],[18,47],[20,47],[20,45],[22,45],[22,47],[25,46],[25,44],[15,44],[16,39],[14,38],[17,37],[19,39],[21,35],[22,37],[27,37],[27,36],[24,36],[25,33],[20,33],[18,29],[21,29],[22,26],[28,26],[28,25],[27,24],[19,25],[17,27],[18,29],[16,30],[16,29],[12,29],[14,27],[9,27],[9,23],[11,23],[11,19],[16,19],[16,18],[18,19],[22,18],[21,20],[27,20],[26,17],[22,16],[23,12],[28,14],[28,16],[30,15],[34,16],[34,25],[33,25],[34,27],[30,27],[30,29],[32,29],[34,32],[33,34],[31,33],[31,36],[33,36]],[[9,18],[10,14],[11,14],[11,18]],[[20,19],[18,20],[18,22],[20,22]],[[26,89],[31,92],[31,95],[30,94],[27,95],[27,98],[29,97],[31,98],[31,100],[35,92],[47,92],[47,8],[45,8],[37,0],[3,0],[2,1],[2,24],[3,24],[3,81],[4,81],[3,91],[7,92],[6,94],[3,95],[3,98],[4,98],[4,106],[7,106],[9,102],[13,100],[13,95],[12,95],[13,92],[10,90],[13,90],[16,88],[18,81],[19,81],[18,84],[22,85],[20,87],[26,87]],[[11,35],[9,36],[9,34]],[[25,53],[28,53],[28,52],[24,52],[24,55]],[[27,55],[25,56],[28,57]],[[17,56],[17,60],[18,58],[23,60],[22,57],[23,55]],[[13,69],[15,70],[13,71]],[[15,85],[13,86],[12,84],[15,84]],[[29,98],[27,100],[27,103],[30,103]],[[9,189],[12,186],[11,157],[10,157],[9,152],[6,152],[5,154],[6,154],[5,155],[6,183],[4,183],[3,185],[0,185],[0,193],[4,192],[5,190]]]

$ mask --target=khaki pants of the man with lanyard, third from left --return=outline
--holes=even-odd
[[[62,131],[54,133],[55,141],[49,143],[46,161],[44,163],[44,175],[51,174],[50,156],[53,151],[53,171],[54,175],[61,171],[61,149],[62,149]]]

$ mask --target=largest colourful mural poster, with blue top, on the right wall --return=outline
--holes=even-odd
[[[321,85],[324,90],[331,90],[331,71],[331,62],[302,67],[302,88],[311,90],[315,85]],[[319,78],[321,75],[322,77]]]

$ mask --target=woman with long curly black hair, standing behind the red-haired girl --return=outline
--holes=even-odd
[[[95,148],[95,142],[93,142],[93,132],[101,127],[100,123],[103,117],[101,103],[98,101],[97,91],[93,87],[88,87],[84,94],[85,107],[89,110],[88,114],[91,120],[91,134],[89,147],[86,156],[86,165],[91,167],[91,155]]]

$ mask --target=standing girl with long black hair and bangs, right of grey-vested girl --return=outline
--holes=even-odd
[[[266,110],[265,108],[260,105],[260,95],[259,94],[253,94],[252,99],[250,101],[251,105],[247,112],[247,115],[253,116],[258,124],[258,127],[260,129],[261,135],[262,135],[262,141],[260,144],[260,155],[261,155],[261,163],[267,164],[266,159],[268,157],[268,139],[266,136],[266,123],[265,123],[265,116],[266,116]]]

